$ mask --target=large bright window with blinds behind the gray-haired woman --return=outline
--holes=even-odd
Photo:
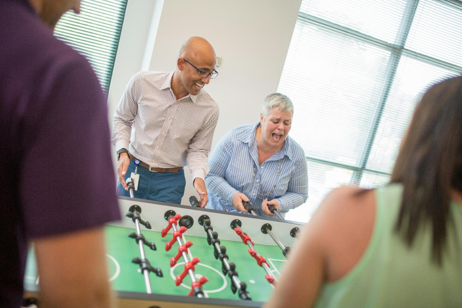
[[[452,0],[303,0],[278,92],[308,161],[308,221],[334,187],[377,187],[423,92],[462,72],[462,4]]]

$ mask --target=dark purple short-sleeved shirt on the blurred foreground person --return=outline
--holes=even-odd
[[[20,305],[30,240],[120,219],[109,151],[90,64],[27,1],[0,0],[0,307]]]

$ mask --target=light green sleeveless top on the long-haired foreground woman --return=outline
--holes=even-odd
[[[402,186],[375,192],[376,221],[368,247],[346,276],[323,285],[316,307],[462,307],[462,206],[451,202],[452,226],[438,267],[431,262],[430,225],[420,229],[412,248],[394,232]]]

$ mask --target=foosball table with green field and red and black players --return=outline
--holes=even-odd
[[[119,205],[122,221],[105,234],[109,280],[124,308],[261,307],[302,227],[144,199],[119,197]],[[30,251],[25,296],[38,279]]]

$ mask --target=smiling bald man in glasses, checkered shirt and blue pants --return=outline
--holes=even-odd
[[[173,72],[133,75],[114,115],[112,144],[117,149],[117,194],[180,204],[188,165],[202,207],[204,177],[219,108],[204,90],[217,77],[215,51],[202,37],[188,38],[178,50]]]

